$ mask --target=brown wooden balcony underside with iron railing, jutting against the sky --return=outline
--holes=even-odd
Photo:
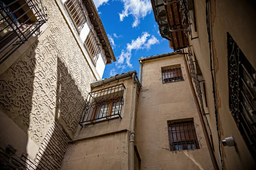
[[[191,30],[190,13],[194,12],[194,0],[151,0],[151,4],[160,34],[170,41],[174,51],[189,45],[188,34],[191,40],[197,38],[192,36]]]

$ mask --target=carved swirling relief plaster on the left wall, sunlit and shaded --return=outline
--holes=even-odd
[[[43,3],[47,30],[0,75],[0,109],[38,145],[55,117],[73,136],[95,81],[58,6],[52,0]]]

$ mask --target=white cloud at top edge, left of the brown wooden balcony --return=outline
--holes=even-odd
[[[140,24],[140,19],[151,13],[152,6],[150,0],[121,0],[124,4],[122,13],[119,13],[120,21],[123,21],[128,15],[134,17],[132,27],[137,27]]]

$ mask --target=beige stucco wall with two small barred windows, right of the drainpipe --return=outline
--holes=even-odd
[[[163,84],[161,67],[176,64],[182,67],[184,81]],[[167,121],[186,118],[194,119],[200,149],[170,151]],[[143,62],[136,121],[141,169],[213,169],[183,56]]]

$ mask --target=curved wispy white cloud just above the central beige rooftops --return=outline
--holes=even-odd
[[[150,37],[150,38],[149,38]],[[117,57],[116,68],[121,68],[122,70],[126,67],[132,68],[131,64],[131,52],[132,50],[139,49],[150,49],[151,45],[158,44],[154,35],[148,34],[148,32],[143,32],[141,36],[137,37],[136,40],[131,40],[131,43],[126,44],[126,49],[121,51],[121,54]]]

